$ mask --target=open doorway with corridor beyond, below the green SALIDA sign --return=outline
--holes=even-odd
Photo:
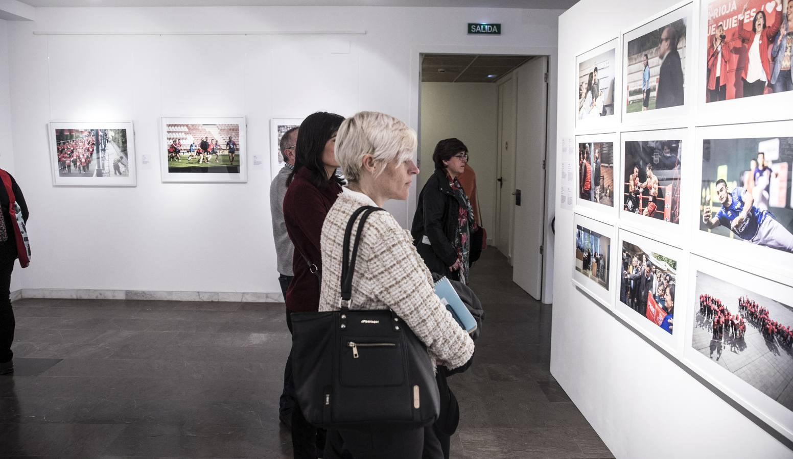
[[[420,64],[416,199],[434,173],[435,144],[462,140],[489,249],[504,254],[513,281],[540,299],[547,56],[422,54]]]

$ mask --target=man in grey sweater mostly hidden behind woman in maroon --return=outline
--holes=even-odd
[[[281,284],[281,293],[286,298],[286,289],[292,282],[292,256],[294,246],[286,232],[284,222],[284,195],[286,194],[286,178],[292,173],[295,164],[295,144],[297,143],[297,127],[286,131],[281,138],[281,153],[284,156],[284,167],[278,171],[270,184],[270,214],[273,220],[273,237],[275,239],[275,252],[278,254],[278,283]],[[286,309],[286,323],[291,330],[292,316]],[[278,418],[287,427],[292,425],[292,410],[295,405],[295,385],[292,378],[292,355],[286,358],[284,367],[284,389],[281,400],[278,402]]]

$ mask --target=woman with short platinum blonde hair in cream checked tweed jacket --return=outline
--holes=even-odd
[[[362,206],[408,199],[419,173],[412,160],[415,150],[416,132],[393,116],[359,112],[339,127],[335,155],[349,184],[322,226],[320,311],[339,309],[343,238],[351,215]],[[452,370],[469,362],[473,340],[435,295],[432,275],[410,233],[392,214],[377,211],[366,220],[354,269],[350,309],[392,309],[427,346],[436,366]],[[408,431],[328,431],[325,453],[326,458],[349,453],[354,459],[443,457],[431,425]]]

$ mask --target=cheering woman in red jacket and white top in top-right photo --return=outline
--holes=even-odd
[[[746,18],[746,6],[740,17]],[[774,23],[768,25],[765,19],[765,12],[760,9],[755,14],[752,21],[752,32],[743,26],[738,27],[738,36],[744,40],[749,47],[746,53],[746,65],[743,74],[743,97],[760,96],[765,85],[771,81],[771,63],[768,57],[768,43],[774,40],[776,32],[780,31],[782,25],[782,0],[776,0],[776,14]]]

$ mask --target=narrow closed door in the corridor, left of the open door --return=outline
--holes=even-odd
[[[496,248],[512,264],[512,221],[515,192],[515,80],[500,83],[498,89],[498,202],[496,208]]]

